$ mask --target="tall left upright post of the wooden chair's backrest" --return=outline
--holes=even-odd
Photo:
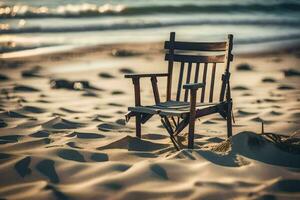
[[[174,55],[175,32],[170,33],[170,59],[168,63],[168,80],[167,80],[167,101],[171,100],[172,93],[172,74],[173,74],[173,55]]]

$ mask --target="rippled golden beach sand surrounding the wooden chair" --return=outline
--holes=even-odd
[[[299,199],[299,55],[236,55],[233,137],[211,115],[197,122],[195,149],[180,151],[158,117],[141,140],[124,120],[134,103],[124,73],[165,72],[161,43],[2,58],[0,198]]]

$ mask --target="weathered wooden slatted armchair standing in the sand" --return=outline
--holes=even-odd
[[[128,108],[129,112],[125,115],[125,118],[126,121],[133,116],[136,118],[136,136],[141,137],[141,124],[146,123],[153,115],[159,115],[163,126],[167,129],[177,149],[179,149],[179,145],[175,136],[189,125],[188,148],[193,148],[195,119],[219,113],[227,121],[227,136],[230,137],[232,135],[232,99],[229,68],[230,62],[233,60],[233,55],[231,54],[232,41],[233,35],[228,35],[227,41],[224,42],[180,42],[175,41],[175,32],[171,32],[170,41],[166,41],[164,46],[167,50],[165,54],[165,60],[168,61],[167,73],[126,74],[125,78],[131,78],[133,81],[135,106]],[[194,52],[194,54],[187,54],[188,52]],[[198,54],[195,55],[195,52]],[[201,52],[202,54],[199,55]],[[174,77],[173,68],[175,63],[179,64],[180,69],[176,97],[172,98],[172,79]],[[217,64],[222,63],[224,73],[220,74],[220,93],[216,97],[217,100],[215,100],[216,71],[220,72],[220,70],[217,70]],[[187,69],[185,70],[186,66]],[[200,69],[201,73],[199,74]],[[182,85],[184,71],[187,73],[185,84]],[[194,80],[191,80],[192,71],[194,72]],[[210,75],[209,81],[208,75]],[[198,82],[199,76],[202,76],[200,83]],[[165,102],[160,101],[157,87],[158,77],[167,78]],[[141,105],[141,78],[150,78],[155,105]],[[208,85],[210,85],[209,91]],[[199,101],[197,101],[198,89],[201,89]],[[180,98],[181,92],[184,95],[183,101]],[[208,94],[206,95],[206,93]],[[207,97],[205,98],[205,96]]]

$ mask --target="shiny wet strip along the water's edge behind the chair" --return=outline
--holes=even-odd
[[[133,46],[138,48],[139,46],[153,46],[157,48],[157,51],[163,50],[163,43],[160,42],[136,42],[136,43],[112,43],[112,44],[97,44],[97,45],[60,45],[60,46],[50,46],[50,47],[41,47],[26,49],[21,51],[12,51],[5,52],[0,54],[1,60],[14,60],[26,57],[36,57],[36,56],[51,56],[51,55],[68,55],[68,54],[80,54],[82,52],[101,52],[107,49],[122,49],[124,47]],[[271,55],[271,54],[280,54],[287,52],[299,52],[300,50],[300,41],[296,40],[295,42],[282,44],[281,41],[269,42],[266,43],[250,43],[250,44],[240,44],[236,45],[237,50],[234,52],[237,56],[259,56],[259,55]],[[250,46],[252,46],[250,48]],[[268,46],[268,47],[266,47]]]

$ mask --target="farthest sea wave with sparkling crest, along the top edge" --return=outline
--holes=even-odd
[[[122,4],[67,4],[56,8],[47,6],[2,5],[1,18],[51,18],[51,17],[95,17],[145,14],[178,13],[244,13],[244,12],[299,12],[300,3],[280,2],[273,4],[224,4],[224,5],[148,5],[126,6]]]

